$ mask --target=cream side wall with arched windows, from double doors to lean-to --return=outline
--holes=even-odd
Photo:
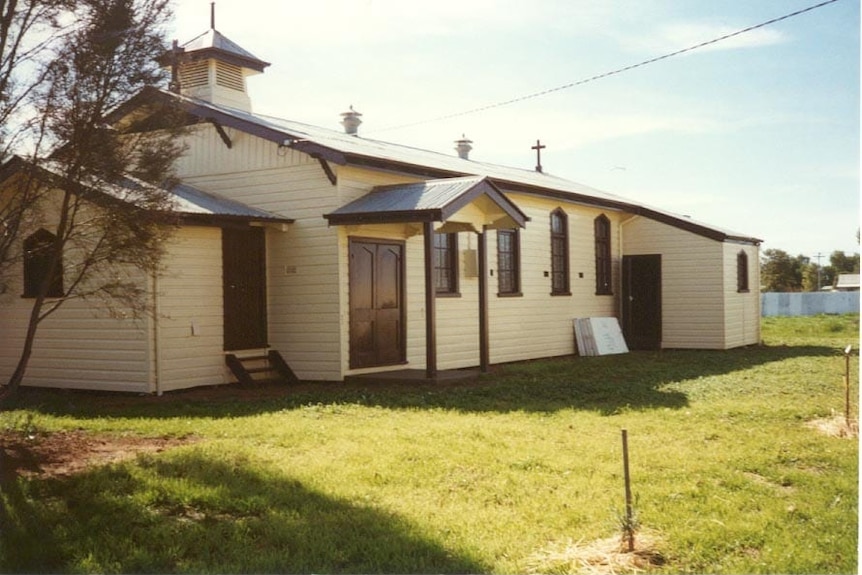
[[[342,175],[351,180],[342,184]],[[373,185],[403,183],[403,178],[356,170],[339,172],[339,185],[353,193],[346,201],[367,193]],[[345,178],[346,179],[346,178]],[[375,184],[372,184],[377,180]],[[611,316],[616,314],[616,295],[595,294],[594,220],[604,214],[612,225],[613,285],[619,286],[620,249],[618,241],[619,214],[566,202],[548,200],[525,194],[507,194],[531,219],[520,231],[521,295],[500,296],[497,293],[497,234],[487,233],[490,360],[492,363],[518,361],[575,352],[572,320],[576,317]],[[568,215],[569,270],[571,295],[551,295],[550,278],[550,213],[562,208]],[[340,230],[339,268],[341,270],[341,333],[345,350],[342,368],[345,375],[381,371],[381,368],[350,370],[349,368],[349,260],[351,237],[388,239],[405,242],[405,297],[407,315],[407,366],[425,367],[425,275],[424,239],[421,227],[409,224],[378,224],[344,226]],[[459,293],[455,297],[440,296],[435,300],[437,319],[437,356],[439,369],[458,369],[479,363],[479,279],[475,266],[478,236],[458,234]],[[615,294],[617,289],[614,290]],[[403,365],[385,369],[401,369]]]

